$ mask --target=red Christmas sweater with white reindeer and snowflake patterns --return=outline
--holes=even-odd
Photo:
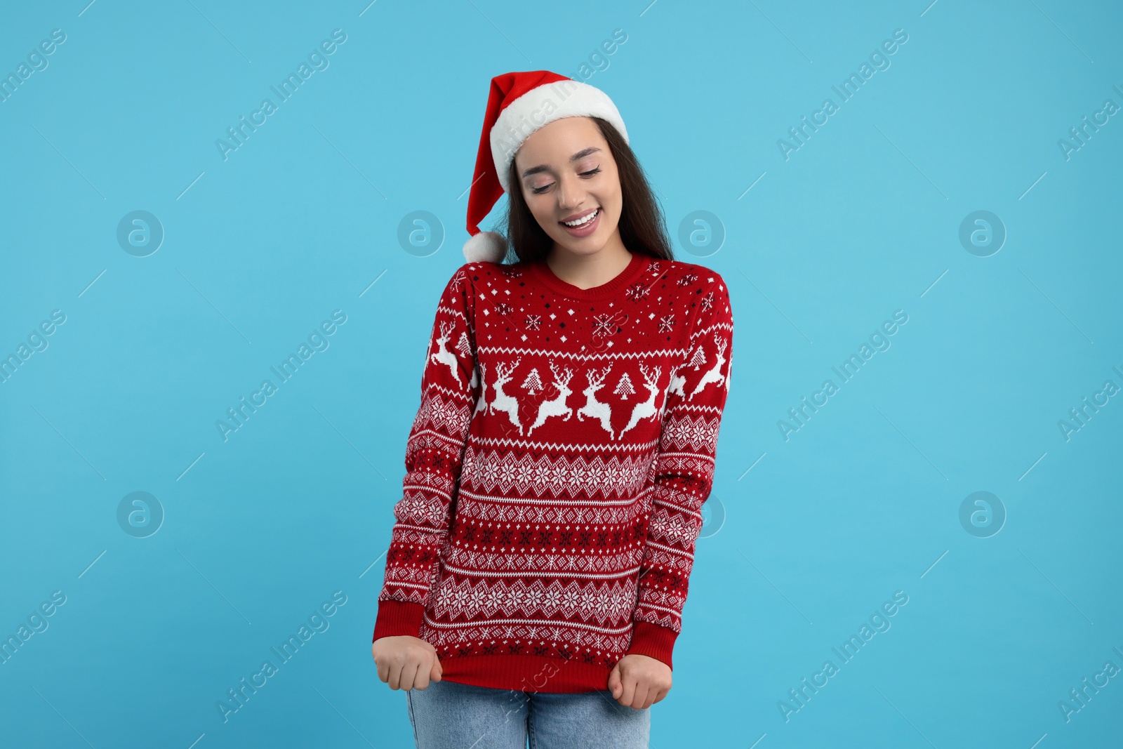
[[[442,678],[608,688],[672,665],[710,494],[733,318],[707,267],[632,254],[579,289],[545,262],[467,263],[437,308],[374,639]]]

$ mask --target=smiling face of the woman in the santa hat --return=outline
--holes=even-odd
[[[545,125],[514,155],[523,199],[555,246],[597,253],[619,241],[623,195],[608,141],[587,117],[564,117]],[[563,222],[592,219],[566,227]]]

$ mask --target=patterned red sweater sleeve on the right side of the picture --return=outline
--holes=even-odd
[[[733,316],[724,280],[705,270],[696,293],[686,360],[667,391],[655,466],[655,496],[640,561],[639,595],[628,654],[672,666],[702,530],[702,504],[713,485],[722,409],[733,358]]]

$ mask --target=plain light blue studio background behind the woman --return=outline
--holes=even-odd
[[[676,247],[737,323],[711,518],[652,747],[1116,747],[1123,676],[1117,3],[19,3],[0,72],[0,666],[10,746],[404,747],[369,655],[437,298],[464,261],[489,81],[577,75],[617,102]],[[346,42],[223,161],[214,141],[332,29]],[[894,29],[909,40],[785,161],[777,139]],[[590,68],[594,70],[594,68]],[[751,190],[749,186],[751,185]],[[501,208],[501,207],[500,207]],[[117,241],[152,212],[147,257]],[[403,247],[416,210],[439,248]],[[1007,237],[959,241],[976,210]],[[500,216],[497,209],[492,226]],[[485,227],[486,228],[486,227]],[[441,230],[436,231],[440,234]],[[435,235],[436,236],[436,235]],[[332,310],[345,325],[223,441],[216,421]],[[803,429],[777,422],[903,310]],[[1113,369],[1119,367],[1119,369]],[[751,467],[751,469],[750,469]],[[122,497],[165,518],[134,538]],[[989,538],[959,521],[994,493]],[[345,605],[244,707],[216,703],[332,592]],[[909,603],[785,722],[777,703],[895,591]],[[275,658],[273,658],[275,660]]]

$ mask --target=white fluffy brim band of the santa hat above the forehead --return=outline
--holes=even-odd
[[[503,108],[491,130],[492,159],[503,192],[510,189],[506,175],[522,143],[538,128],[564,117],[600,117],[628,143],[620,111],[600,89],[581,81],[556,81],[531,89]]]

